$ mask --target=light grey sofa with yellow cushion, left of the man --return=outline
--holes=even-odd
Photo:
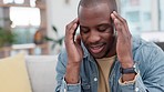
[[[0,92],[54,92],[58,55],[0,59]]]

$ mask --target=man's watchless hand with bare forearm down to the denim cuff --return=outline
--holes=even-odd
[[[65,81],[68,83],[78,83],[80,73],[80,63],[83,59],[83,51],[81,48],[81,37],[78,35],[74,40],[75,31],[79,25],[79,19],[74,19],[65,28],[65,49],[68,52],[68,65],[65,73]]]

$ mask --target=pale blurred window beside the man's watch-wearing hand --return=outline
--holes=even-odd
[[[120,0],[121,14],[129,22],[133,35],[140,35],[143,31],[152,31],[152,0]],[[146,4],[145,4],[146,3]]]

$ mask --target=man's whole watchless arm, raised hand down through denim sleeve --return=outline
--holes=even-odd
[[[79,27],[79,19],[74,19],[65,28],[65,50],[66,55],[59,55],[59,67],[57,67],[57,72],[60,79],[59,80],[59,90],[60,92],[81,92],[80,88],[80,65],[83,59],[83,50],[81,48],[81,37],[75,37],[75,31]],[[66,60],[62,60],[66,58]],[[62,62],[65,62],[65,67],[62,67]],[[64,71],[63,69],[64,68]],[[61,72],[64,72],[61,74]],[[62,78],[61,78],[62,76]],[[61,86],[61,88],[60,88]]]

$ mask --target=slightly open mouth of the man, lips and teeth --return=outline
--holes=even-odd
[[[90,51],[92,53],[100,53],[103,49],[104,49],[104,44],[103,43],[101,43],[101,44],[94,44],[94,45],[91,45],[90,47]]]

